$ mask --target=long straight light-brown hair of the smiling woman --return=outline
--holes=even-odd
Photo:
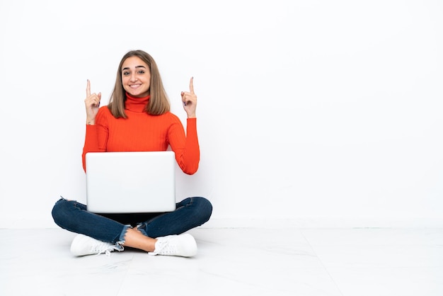
[[[145,62],[151,72],[151,82],[149,86],[149,102],[144,108],[145,112],[150,115],[161,115],[171,110],[168,95],[161,82],[159,68],[156,62],[148,53],[143,50],[132,50],[122,57],[117,69],[117,78],[113,93],[110,96],[108,108],[115,118],[127,118],[125,113],[126,91],[122,84],[122,64],[128,57],[139,57]]]

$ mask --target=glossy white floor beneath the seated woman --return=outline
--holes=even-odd
[[[75,258],[62,229],[0,229],[0,295],[443,295],[439,228],[190,233],[194,258]]]

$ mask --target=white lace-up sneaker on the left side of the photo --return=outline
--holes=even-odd
[[[85,256],[93,254],[102,254],[110,256],[110,252],[117,250],[123,251],[123,246],[118,244],[111,244],[105,241],[99,241],[92,237],[87,237],[84,234],[77,234],[71,243],[71,253],[75,256]]]

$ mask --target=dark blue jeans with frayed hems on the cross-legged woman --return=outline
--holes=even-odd
[[[212,205],[206,198],[185,198],[173,212],[146,214],[94,214],[86,205],[60,198],[52,208],[54,222],[70,232],[85,234],[100,241],[122,244],[127,229],[137,225],[147,237],[181,234],[209,220]]]

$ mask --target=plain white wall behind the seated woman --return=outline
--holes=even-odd
[[[195,77],[209,225],[442,225],[442,1],[0,0],[0,227],[85,202],[86,79],[156,59]]]

